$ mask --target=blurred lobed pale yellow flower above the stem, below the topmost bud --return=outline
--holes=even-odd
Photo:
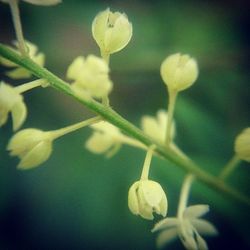
[[[89,55],[86,59],[79,56],[72,62],[67,78],[74,80],[72,88],[78,94],[102,98],[108,96],[113,87],[108,74],[107,63],[102,58]]]

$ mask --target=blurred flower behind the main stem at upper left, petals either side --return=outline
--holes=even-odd
[[[38,52],[37,46],[34,45],[33,43],[25,41],[25,45],[28,48],[28,54],[30,58],[39,66],[43,67],[45,63],[45,55],[41,52]],[[16,52],[19,53],[19,51],[16,51]],[[3,57],[0,57],[0,63],[6,67],[15,67],[15,69],[12,69],[6,72],[6,75],[10,78],[23,79],[23,78],[29,78],[32,76],[32,74],[28,70],[20,67],[19,65]]]

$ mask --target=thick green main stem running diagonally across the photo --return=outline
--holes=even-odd
[[[207,173],[193,161],[180,157],[173,150],[171,150],[171,148],[166,148],[166,146],[158,144],[152,138],[145,135],[140,129],[138,129],[126,119],[121,117],[112,108],[106,107],[93,99],[77,96],[74,91],[72,91],[69,84],[52,74],[47,69],[37,65],[31,59],[20,56],[15,51],[13,51],[13,49],[2,44],[0,44],[0,55],[18,64],[19,66],[22,66],[25,69],[29,70],[38,78],[46,79],[50,83],[51,87],[60,92],[63,92],[68,96],[71,96],[78,102],[82,103],[85,107],[92,110],[97,115],[102,116],[103,119],[120,128],[130,137],[140,141],[146,146],[150,146],[153,144],[156,145],[155,152],[159,156],[169,160],[184,171],[192,173],[197,180],[200,180],[204,184],[213,188],[216,192],[220,192],[230,198],[234,198],[235,200],[241,201],[250,206],[250,199],[246,195],[237,191],[233,187],[230,187],[229,185],[224,183],[220,178]]]

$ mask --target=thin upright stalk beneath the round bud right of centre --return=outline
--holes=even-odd
[[[171,143],[171,131],[172,131],[172,123],[174,117],[174,107],[177,98],[177,91],[168,90],[168,121],[167,121],[167,130],[166,130],[166,146],[169,147]]]

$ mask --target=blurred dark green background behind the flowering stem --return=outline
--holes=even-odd
[[[91,23],[101,10],[125,12],[133,38],[111,57],[111,104],[140,126],[144,114],[165,108],[167,96],[159,67],[172,53],[194,56],[200,68],[195,85],[176,106],[177,144],[204,169],[218,174],[233,153],[235,136],[250,124],[248,1],[70,1],[55,7],[21,3],[27,40],[46,54],[46,67],[65,79],[78,55],[99,54]],[[0,3],[0,41],[15,39],[9,8]],[[14,85],[3,75],[1,79]],[[92,114],[53,89],[25,94],[24,127],[60,128]],[[89,128],[54,143],[52,157],[30,171],[17,171],[5,150],[11,121],[0,129],[0,249],[155,249],[153,222],[133,216],[127,191],[140,176],[145,153],[122,147],[111,159],[84,148]],[[167,192],[174,216],[183,171],[153,159],[150,176]],[[249,192],[249,164],[229,182]],[[249,207],[195,184],[190,204],[209,204],[206,216],[220,231],[207,238],[210,249],[249,249]],[[155,221],[158,221],[159,217]],[[183,249],[179,241],[166,249]]]

